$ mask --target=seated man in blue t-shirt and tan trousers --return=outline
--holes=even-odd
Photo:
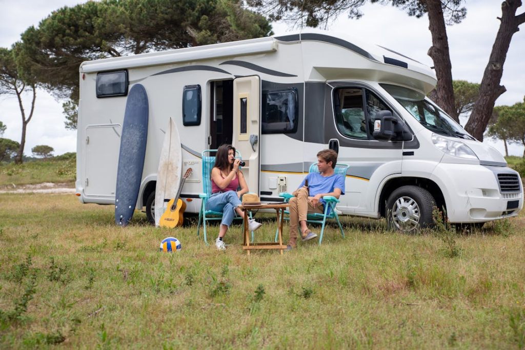
[[[333,169],[337,163],[337,153],[333,150],[322,150],[317,154],[317,167],[319,173],[309,173],[301,185],[290,198],[290,241],[288,250],[297,247],[297,230],[301,225],[302,241],[316,238],[308,229],[308,213],[324,213],[326,202],[323,196],[333,196],[339,199],[344,194],[344,177],[335,174]],[[307,182],[308,181],[308,182]]]

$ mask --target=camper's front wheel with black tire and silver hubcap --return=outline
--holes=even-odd
[[[390,228],[403,232],[416,232],[432,227],[434,197],[426,189],[417,186],[397,188],[386,201],[386,219]]]

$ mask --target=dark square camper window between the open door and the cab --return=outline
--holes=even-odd
[[[262,91],[261,132],[294,133],[299,118],[297,88]]]

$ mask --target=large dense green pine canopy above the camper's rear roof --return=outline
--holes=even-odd
[[[271,34],[240,0],[101,0],[62,7],[22,34],[38,81],[64,105],[76,129],[80,63]]]

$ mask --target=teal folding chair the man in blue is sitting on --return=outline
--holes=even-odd
[[[348,164],[338,163],[338,164],[335,164],[335,168],[333,169],[333,171],[334,171],[335,174],[340,174],[343,177],[345,177],[347,169],[348,169]],[[308,172],[309,173],[314,173],[314,172],[318,173],[319,169],[317,168],[317,164],[314,163],[314,164],[310,165],[310,169],[309,169]],[[279,196],[285,198],[285,203],[288,203],[288,201],[290,201],[290,198],[293,197],[289,193],[280,193]],[[317,224],[322,224],[321,233],[320,233],[320,236],[319,236],[319,245],[321,245],[321,242],[323,241],[324,226],[326,224],[327,219],[335,219],[337,221],[337,224],[339,225],[339,229],[341,230],[341,235],[343,236],[343,238],[345,238],[344,237],[343,227],[341,226],[341,222],[339,221],[339,216],[337,215],[337,211],[335,211],[335,205],[337,205],[339,203],[339,199],[337,199],[337,198],[335,198],[333,196],[324,196],[323,199],[327,203],[324,206],[324,213],[323,214],[309,213],[307,215],[307,219],[306,219],[307,222],[317,222]],[[290,211],[285,210],[284,214],[287,214],[289,216],[290,215]],[[290,220],[290,218],[289,217],[285,217],[285,220]],[[300,233],[301,233],[301,228],[299,227],[299,234]],[[277,235],[278,235],[278,232],[275,235],[275,241],[276,242],[277,242]]]

